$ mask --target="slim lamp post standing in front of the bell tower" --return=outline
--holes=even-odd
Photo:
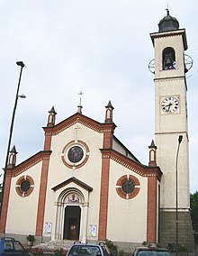
[[[178,146],[176,151],[176,229],[175,229],[175,256],[178,255],[178,156],[179,156],[179,148],[182,142],[183,135],[179,135],[178,138]]]

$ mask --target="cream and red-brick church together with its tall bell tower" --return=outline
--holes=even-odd
[[[114,135],[111,101],[103,123],[85,116],[82,105],[56,123],[52,107],[43,128],[43,150],[18,165],[15,147],[10,151],[0,233],[21,238],[30,233],[36,242],[108,239],[123,249],[142,242],[166,247],[175,243],[178,232],[178,242],[193,250],[187,41],[185,30],[168,11],[158,27],[150,34],[155,59],[149,68],[155,74],[156,95],[155,141],[148,146],[148,164]]]

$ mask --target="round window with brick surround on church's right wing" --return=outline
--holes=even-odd
[[[139,180],[132,175],[124,175],[116,183],[116,191],[121,198],[131,199],[139,193]]]

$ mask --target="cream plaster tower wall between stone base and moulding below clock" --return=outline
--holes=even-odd
[[[156,135],[157,165],[160,166],[163,176],[161,180],[160,205],[165,208],[175,208],[176,194],[176,151],[178,147],[178,136],[172,134]],[[178,206],[189,207],[189,169],[187,138],[183,136],[178,156]],[[171,146],[170,146],[171,145]]]

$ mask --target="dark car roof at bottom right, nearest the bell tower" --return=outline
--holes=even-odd
[[[172,256],[170,251],[160,247],[138,247],[132,256]]]

